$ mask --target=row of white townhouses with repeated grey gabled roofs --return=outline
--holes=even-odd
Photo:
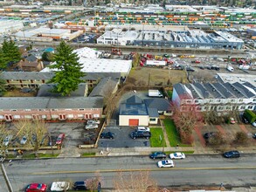
[[[186,110],[186,105],[195,105],[197,111],[202,112],[256,110],[256,87],[248,82],[178,83],[173,87],[172,102],[182,110]]]

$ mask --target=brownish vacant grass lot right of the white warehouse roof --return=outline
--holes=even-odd
[[[128,83],[135,86],[168,86],[181,82],[188,82],[185,71],[136,67],[128,76]]]

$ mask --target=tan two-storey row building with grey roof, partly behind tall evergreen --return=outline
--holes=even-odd
[[[6,86],[17,88],[38,88],[47,83],[54,76],[54,72],[2,72],[1,79],[6,81]],[[120,79],[120,72],[86,72],[85,80],[88,87],[96,86],[102,78],[111,77]]]

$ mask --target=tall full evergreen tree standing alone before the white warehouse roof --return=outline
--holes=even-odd
[[[56,84],[53,92],[69,96],[83,82],[80,78],[84,77],[85,73],[81,72],[82,67],[78,62],[78,55],[64,41],[61,41],[56,50],[57,53],[53,54],[52,58],[54,64],[50,65],[50,68],[55,69],[56,72],[49,83]]]

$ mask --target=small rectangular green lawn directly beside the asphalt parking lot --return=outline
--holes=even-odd
[[[163,143],[164,143],[164,147],[166,147],[166,142],[164,140],[163,130],[161,127],[152,127],[152,128],[150,127],[150,132],[151,132],[151,137],[150,137],[151,147],[163,147]],[[163,142],[161,141],[160,138],[162,138]]]

